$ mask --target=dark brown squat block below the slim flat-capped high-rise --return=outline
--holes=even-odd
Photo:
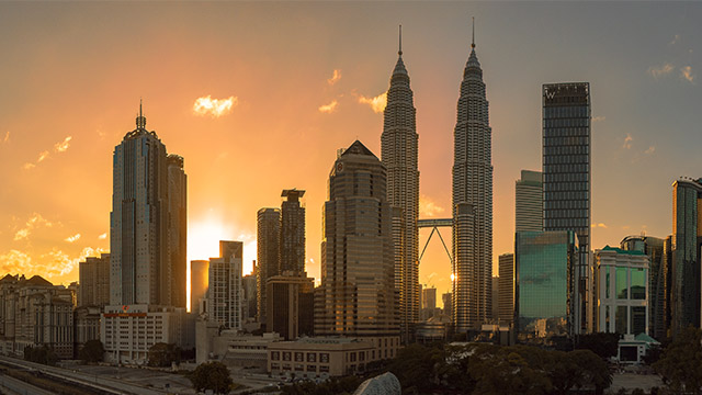
[[[314,283],[307,273],[295,271],[268,279],[268,331],[278,332],[285,340],[314,335]]]

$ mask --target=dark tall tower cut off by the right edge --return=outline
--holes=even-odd
[[[702,247],[702,179],[672,183],[671,329],[675,337],[700,327],[700,248]]]

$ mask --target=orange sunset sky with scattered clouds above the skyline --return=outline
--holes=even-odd
[[[471,16],[492,127],[494,261],[513,249],[514,180],[541,169],[547,82],[591,84],[592,247],[669,235],[671,183],[702,177],[702,3],[2,2],[0,272],[68,284],[110,249],[112,154],[143,98],[147,128],[185,158],[189,260],[241,240],[250,271],[257,211],[297,188],[318,278],[329,170],[356,138],[380,156],[400,23],[420,216],[450,216]],[[432,240],[420,282],[445,292],[449,275]]]

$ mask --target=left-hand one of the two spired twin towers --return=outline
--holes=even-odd
[[[411,325],[419,319],[419,170],[417,125],[409,75],[403,61],[400,26],[397,63],[387,90],[387,105],[381,136],[381,157],[387,169],[387,202],[398,207],[399,226],[393,228],[396,247],[396,279],[399,291],[400,330],[405,341]],[[397,222],[397,221],[396,221]],[[399,274],[399,278],[397,275]]]

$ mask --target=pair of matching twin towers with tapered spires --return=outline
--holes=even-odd
[[[401,27],[400,27],[401,29]],[[400,332],[409,339],[419,320],[419,170],[416,109],[403,61],[397,64],[384,113],[382,161],[387,201],[394,207],[395,286],[399,291]],[[463,72],[454,129],[452,323],[458,332],[490,318],[492,275],[491,128],[483,70],[475,42]]]

